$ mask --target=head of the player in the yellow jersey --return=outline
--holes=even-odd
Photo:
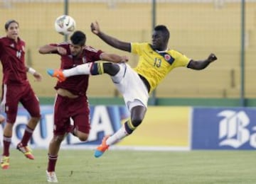
[[[152,47],[155,50],[166,50],[170,32],[165,25],[156,25],[152,34]]]

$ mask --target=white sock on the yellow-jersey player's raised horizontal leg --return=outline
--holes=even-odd
[[[84,74],[90,74],[90,68],[92,67],[92,62],[80,64],[72,69],[64,69],[63,75],[65,77],[69,76],[77,76],[77,75],[84,75]]]

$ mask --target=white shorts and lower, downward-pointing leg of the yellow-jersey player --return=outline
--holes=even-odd
[[[102,156],[110,145],[132,134],[144,119],[149,99],[146,85],[128,64],[119,64],[119,72],[111,78],[119,93],[122,93],[130,112],[130,119],[124,122],[124,125],[112,136],[106,136],[102,139],[102,144],[95,151],[95,157]]]

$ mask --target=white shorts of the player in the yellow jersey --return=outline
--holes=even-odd
[[[129,64],[119,63],[119,67],[120,71],[111,78],[118,91],[122,93],[129,111],[138,105],[147,108],[149,93],[139,74]]]

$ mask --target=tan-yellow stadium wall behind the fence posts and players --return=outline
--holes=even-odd
[[[49,42],[62,42],[63,37],[55,33],[53,22],[63,14],[60,1],[0,1],[4,35],[4,23],[15,18],[21,25],[21,37],[26,40],[26,59],[29,65],[43,74],[43,83],[31,84],[40,97],[55,96],[55,80],[46,74],[48,68],[59,67],[59,57],[38,54],[38,47]],[[90,23],[99,21],[102,30],[127,41],[151,40],[151,3],[126,3],[115,1],[110,6],[105,1],[95,4],[73,1],[69,14],[75,18],[78,30],[87,33],[87,44],[106,52],[128,54],[129,64],[134,67],[137,57],[127,52],[114,50],[90,33]],[[156,90],[157,98],[239,98],[240,97],[240,1],[161,1],[156,6],[156,23],[165,24],[171,31],[170,48],[183,52],[193,59],[203,59],[215,52],[218,61],[203,71],[175,69]],[[201,2],[201,1],[197,1]],[[203,1],[202,1],[203,2]],[[216,1],[217,2],[217,1]],[[255,1],[246,4],[246,52],[245,52],[245,98],[255,98],[255,53],[256,19]],[[117,16],[118,15],[118,16]],[[0,76],[1,77],[1,76]],[[43,84],[43,85],[42,85]],[[102,88],[104,90],[102,90]],[[90,78],[90,97],[119,97],[109,76]],[[161,101],[161,100],[159,100]],[[237,101],[237,100],[235,100]]]

